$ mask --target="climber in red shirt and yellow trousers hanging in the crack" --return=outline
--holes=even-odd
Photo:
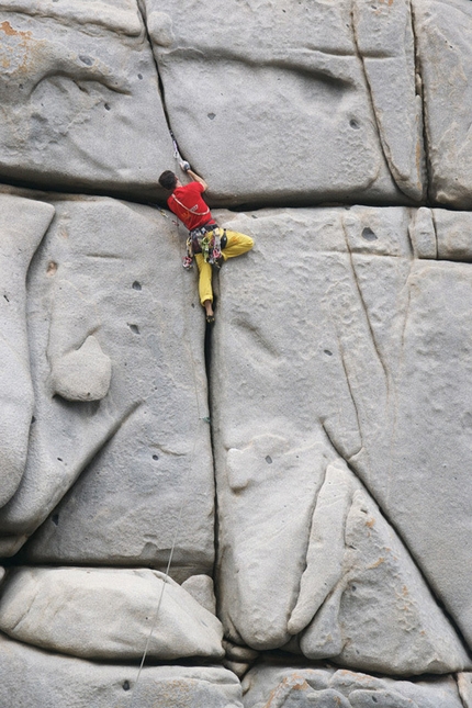
[[[245,234],[220,228],[202,198],[207,190],[205,180],[190,169],[189,162],[182,160],[180,167],[192,178],[189,184],[183,186],[170,170],[161,173],[159,184],[171,192],[167,205],[190,232],[183,267],[191,268],[195,258],[200,273],[200,302],[205,308],[206,322],[213,324],[212,266],[220,269],[228,258],[250,250],[254,240]]]

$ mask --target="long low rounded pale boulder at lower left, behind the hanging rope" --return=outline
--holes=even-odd
[[[0,597],[12,639],[83,659],[221,659],[218,619],[156,571],[20,567]]]

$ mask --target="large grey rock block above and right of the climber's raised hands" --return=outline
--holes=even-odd
[[[231,24],[220,0],[143,4],[170,124],[214,199],[420,199],[407,3],[357,2],[355,25],[350,0],[232,3]]]

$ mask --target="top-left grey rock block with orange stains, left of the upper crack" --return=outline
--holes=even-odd
[[[136,2],[0,3],[0,175],[148,195],[172,159]]]

